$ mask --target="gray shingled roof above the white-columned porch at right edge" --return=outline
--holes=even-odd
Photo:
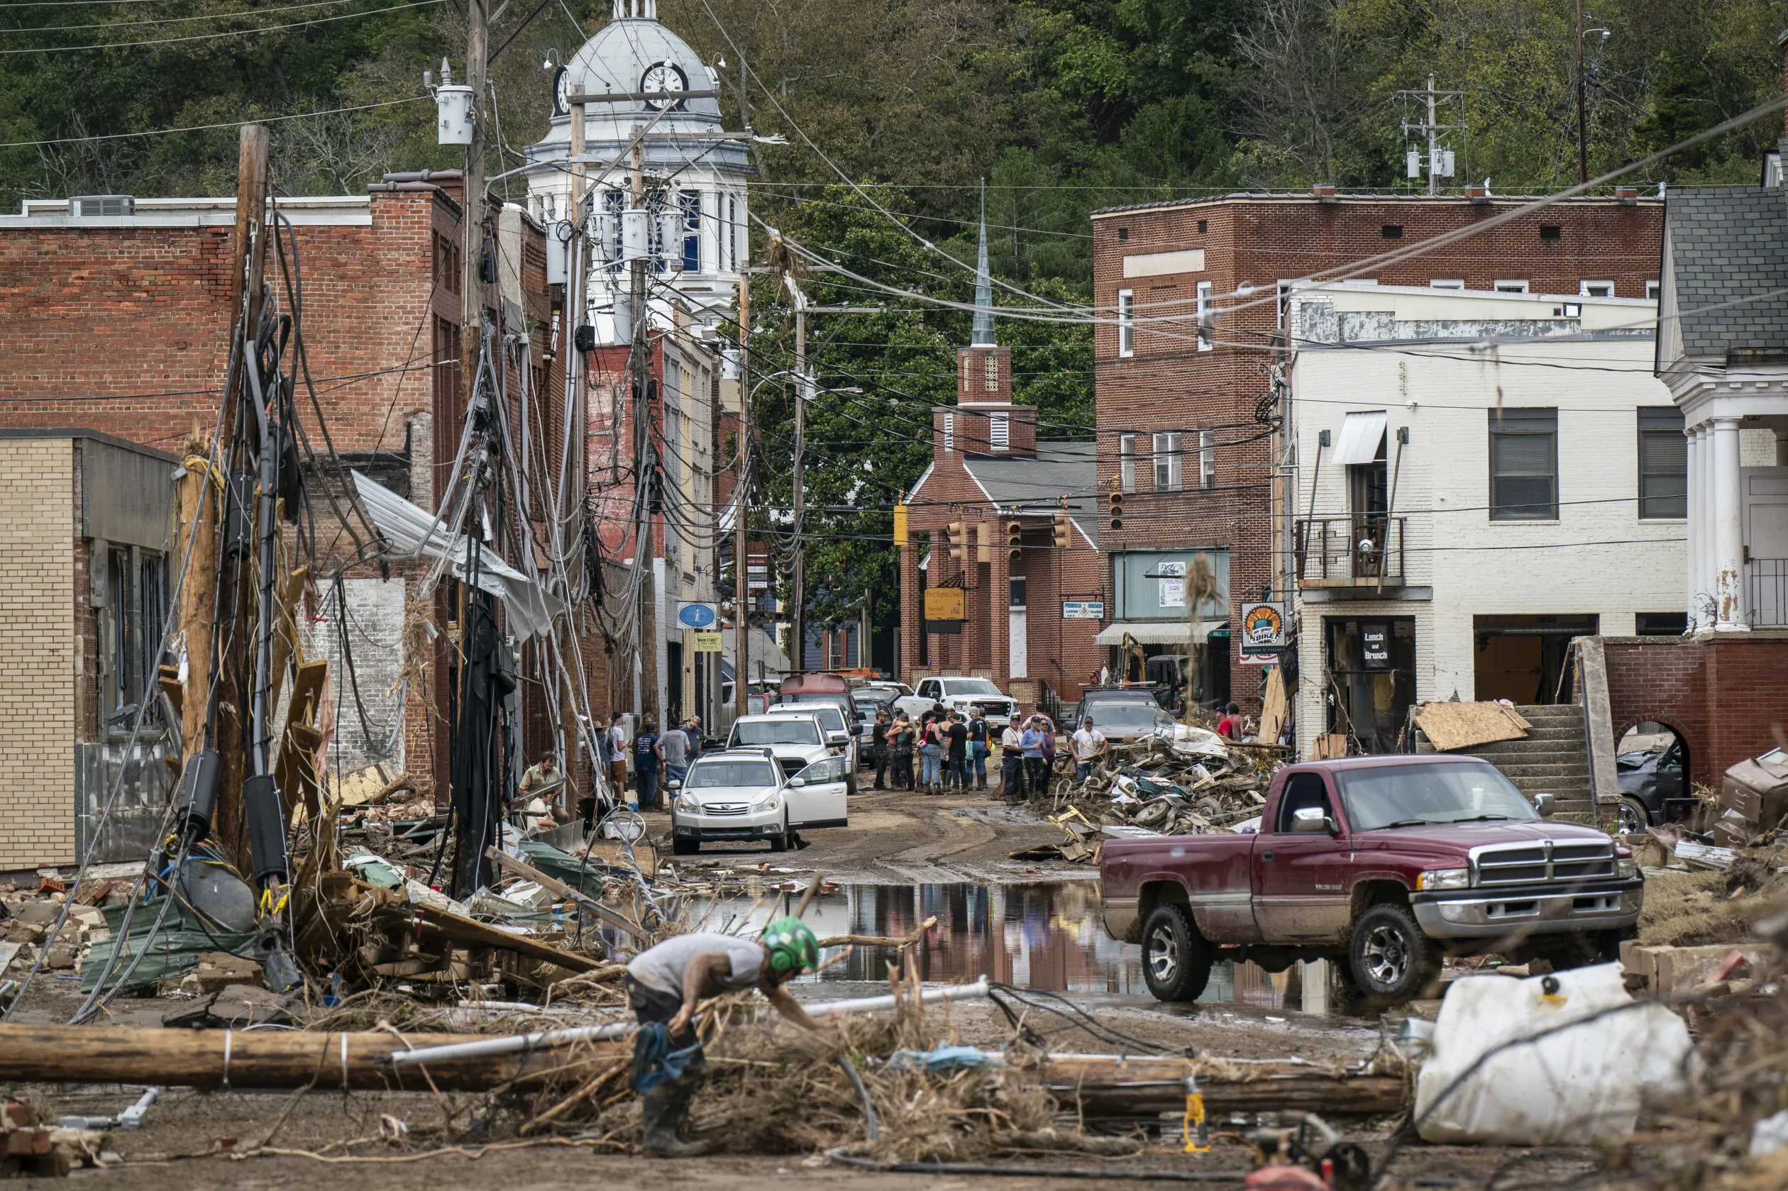
[[[1788,195],[1758,186],[1670,191],[1670,275],[1679,311],[1788,290]],[[1683,315],[1686,356],[1788,347],[1788,293]]]

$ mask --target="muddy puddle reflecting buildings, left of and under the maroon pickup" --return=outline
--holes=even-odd
[[[697,903],[694,917],[708,928],[740,930],[749,901]],[[781,907],[751,916],[758,926]],[[1118,942],[1100,921],[1092,882],[1001,885],[842,885],[814,898],[806,921],[821,937],[899,937],[937,917],[919,950],[919,975],[935,982],[987,976],[1017,989],[1084,994],[1150,996],[1143,982],[1143,950]],[[892,951],[855,948],[817,976],[821,982],[885,982]],[[830,959],[830,957],[828,957]],[[1311,980],[1293,966],[1273,975],[1253,964],[1219,962],[1200,1001],[1259,1009],[1327,1012],[1327,978]]]

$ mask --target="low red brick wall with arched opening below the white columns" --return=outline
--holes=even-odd
[[[1691,781],[1718,789],[1729,765],[1788,730],[1788,633],[1607,637],[1604,653],[1615,740],[1643,721],[1668,724],[1688,742]]]

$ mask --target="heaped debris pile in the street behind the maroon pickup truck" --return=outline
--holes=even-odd
[[[1098,864],[1101,837],[1257,830],[1266,789],[1287,756],[1286,746],[1227,740],[1193,724],[1114,742],[1085,783],[1062,774],[1048,799],[1035,799],[1067,839],[1012,858]]]

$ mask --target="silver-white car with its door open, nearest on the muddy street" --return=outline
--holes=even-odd
[[[794,832],[849,826],[844,762],[812,746],[815,756],[794,776],[774,748],[706,753],[683,780],[670,780],[670,851],[690,855],[704,842],[765,840],[787,851]]]

